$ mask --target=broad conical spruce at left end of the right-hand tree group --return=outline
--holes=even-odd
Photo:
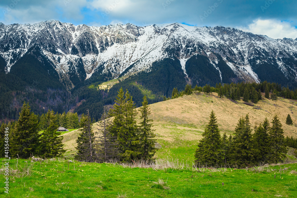
[[[219,132],[217,118],[211,111],[210,121],[202,133],[202,140],[195,151],[195,163],[207,166],[222,164],[222,138]]]

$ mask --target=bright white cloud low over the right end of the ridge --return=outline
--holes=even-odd
[[[237,27],[242,31],[252,32],[254,34],[263,34],[273,39],[297,38],[297,29],[287,21],[273,19],[257,19],[247,27]]]

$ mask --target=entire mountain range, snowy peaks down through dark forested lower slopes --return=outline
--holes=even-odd
[[[229,27],[0,23],[0,119],[16,119],[28,101],[35,113],[89,108],[97,120],[120,87],[137,106],[145,94],[159,102],[187,84],[268,81],[295,88],[296,66],[297,39]]]

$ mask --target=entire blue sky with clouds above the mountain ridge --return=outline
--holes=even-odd
[[[228,26],[271,38],[297,37],[293,0],[1,0],[0,22],[75,25],[184,23]]]

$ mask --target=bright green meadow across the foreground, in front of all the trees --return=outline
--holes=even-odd
[[[4,193],[6,176],[1,169],[0,197],[117,197],[118,192],[131,198],[297,197],[297,164],[271,166],[268,172],[255,173],[230,168],[221,172],[212,169],[196,172],[192,167],[153,170],[77,161],[70,162],[68,170],[68,160],[59,159],[35,162],[30,169],[27,165],[30,161],[25,161],[19,160],[19,171],[9,176],[9,194]],[[10,160],[12,170],[17,169],[16,163],[16,159]],[[158,178],[167,181],[171,190],[157,188],[152,182]]]

